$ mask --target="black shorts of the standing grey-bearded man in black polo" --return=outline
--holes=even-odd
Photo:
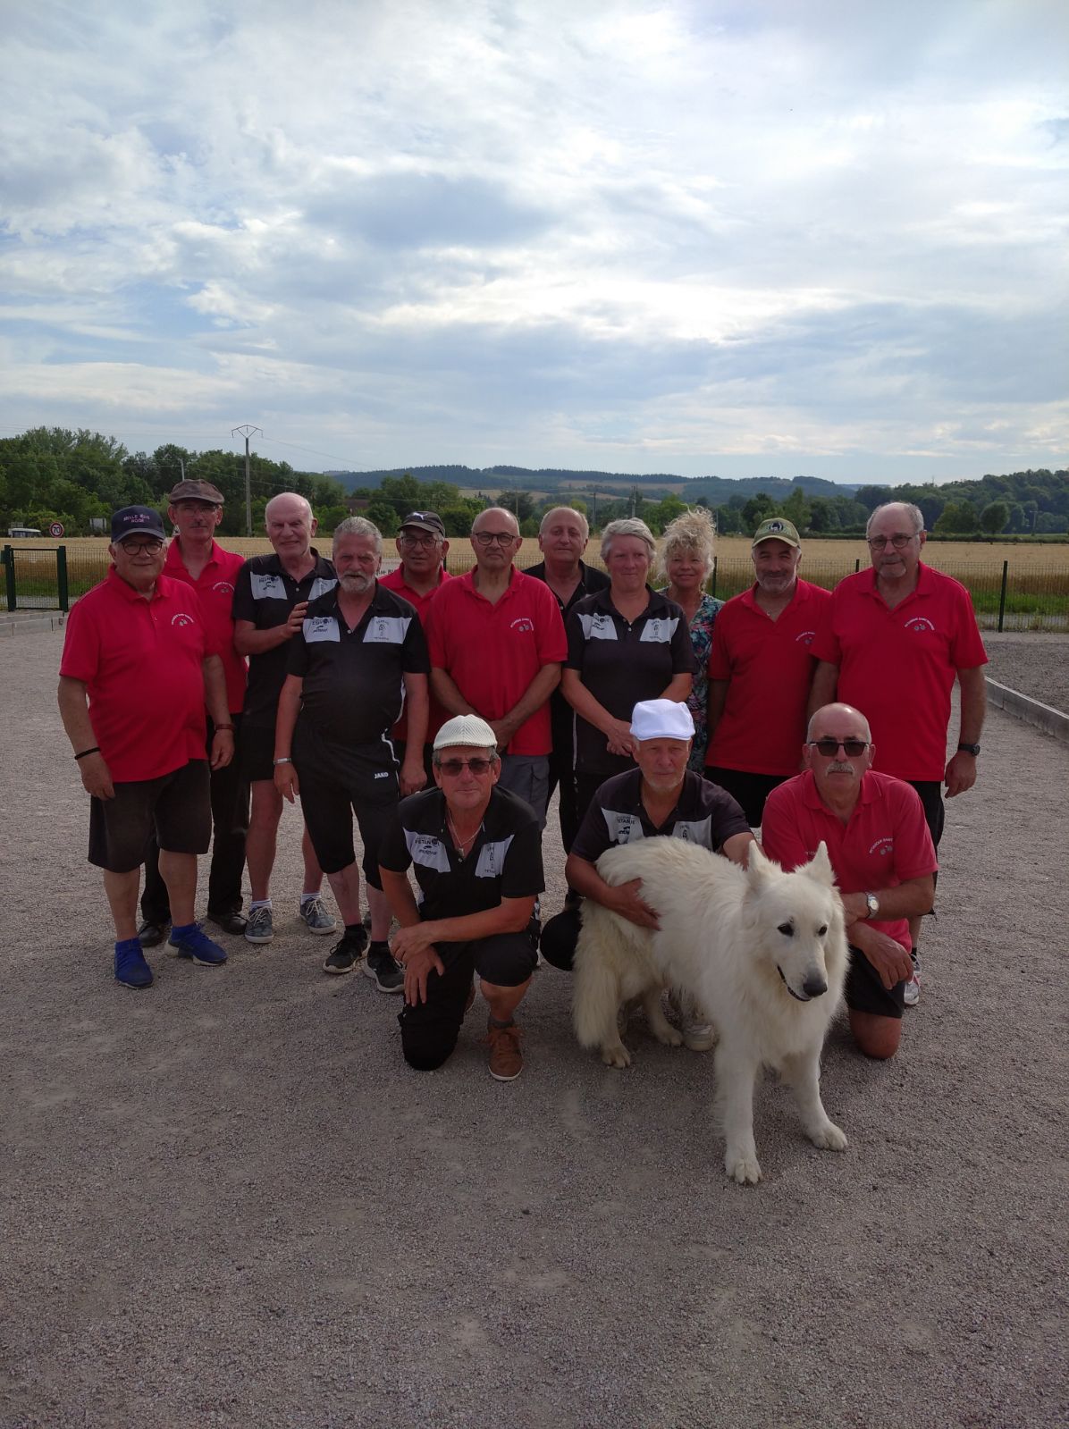
[[[356,862],[353,813],[364,846],[362,867],[373,889],[382,889],[379,845],[397,809],[397,762],[387,743],[337,745],[297,720],[293,765],[300,780],[304,826],[324,873],[340,873]]]

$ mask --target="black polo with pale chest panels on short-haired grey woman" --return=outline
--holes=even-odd
[[[676,674],[696,674],[686,616],[667,596],[650,590],[636,620],[625,620],[609,589],[576,602],[567,616],[569,670],[615,719],[630,723],[639,700],[660,699]],[[576,770],[617,773],[622,760],[607,752],[605,735],[576,716]]]

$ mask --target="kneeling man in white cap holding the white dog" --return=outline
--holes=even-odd
[[[689,770],[686,762],[695,722],[686,704],[643,700],[632,714],[637,769],[606,780],[579,826],[565,865],[569,887],[637,923],[656,927],[653,910],[642,899],[639,879],[617,887],[605,882],[596,863],[606,849],[635,839],[672,837],[700,843],[745,866],[753,833],[746,815],[729,793]],[[565,972],[579,937],[580,913],[566,907],[542,930],[542,956]],[[683,1040],[695,1052],[712,1046],[713,1032],[693,1006],[677,1007]]]

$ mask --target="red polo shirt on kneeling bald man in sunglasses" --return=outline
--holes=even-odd
[[[760,825],[767,856],[790,872],[809,863],[822,840],[840,893],[896,889],[939,867],[918,792],[875,769],[863,775],[846,823],[822,800],[809,769],[772,790]],[[909,949],[909,919],[875,919],[873,927]]]

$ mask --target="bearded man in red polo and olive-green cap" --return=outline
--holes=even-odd
[[[753,586],[713,626],[705,773],[756,829],[767,795],[797,773],[816,664],[809,647],[829,594],[799,579],[802,542],[783,516],[760,523],[750,559]]]

